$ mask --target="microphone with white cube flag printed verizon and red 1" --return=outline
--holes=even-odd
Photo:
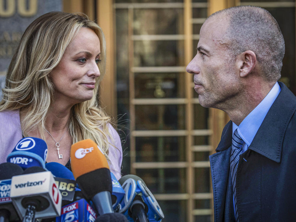
[[[33,166],[11,179],[12,203],[23,221],[57,217],[61,214],[62,194],[50,171]]]

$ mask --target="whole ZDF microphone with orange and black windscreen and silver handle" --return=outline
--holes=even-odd
[[[86,139],[72,145],[71,168],[79,188],[98,213],[113,213],[109,165],[94,141]]]

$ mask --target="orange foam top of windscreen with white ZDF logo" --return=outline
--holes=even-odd
[[[91,139],[81,140],[73,144],[70,157],[75,180],[79,176],[97,169],[110,169],[106,157]]]

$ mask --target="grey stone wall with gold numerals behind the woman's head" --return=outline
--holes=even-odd
[[[40,15],[61,10],[62,0],[0,1],[0,99],[5,74],[22,33]]]

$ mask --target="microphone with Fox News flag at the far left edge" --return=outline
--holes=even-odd
[[[0,221],[19,221],[10,198],[11,177],[23,173],[23,169],[13,163],[0,164]]]

